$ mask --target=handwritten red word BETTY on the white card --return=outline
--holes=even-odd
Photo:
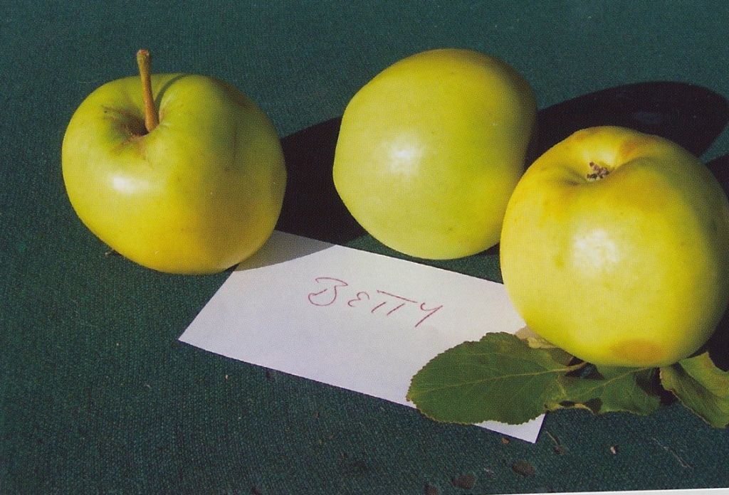
[[[416,322],[414,327],[443,308],[443,304],[427,307],[424,302],[398,296],[386,290],[356,290],[344,280],[334,277],[316,277],[314,282],[320,288],[316,292],[308,293],[308,300],[314,306],[332,306],[336,303],[350,308],[366,309],[372,314],[383,314],[386,317],[399,312],[400,316],[406,314],[412,316]]]

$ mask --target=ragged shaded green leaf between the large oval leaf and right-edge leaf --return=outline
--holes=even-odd
[[[658,409],[660,397],[652,385],[655,368],[595,366],[588,376],[558,377],[563,396],[550,409],[586,408],[593,413],[628,412],[647,415]]]

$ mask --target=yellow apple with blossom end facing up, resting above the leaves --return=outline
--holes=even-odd
[[[590,162],[608,175],[588,181]],[[688,151],[634,130],[581,130],[539,157],[499,248],[527,325],[590,363],[675,363],[727,307],[727,197]]]

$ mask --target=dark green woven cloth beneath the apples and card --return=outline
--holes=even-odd
[[[74,109],[135,74],[140,47],[155,71],[235,84],[273,120],[292,164],[325,169],[349,98],[414,52],[498,55],[542,109],[637,82],[729,96],[728,25],[723,1],[3,2],[0,493],[729,486],[729,432],[677,403],[648,417],[553,413],[532,445],[181,344],[227,274],[170,276],[105,256],[71,210],[60,163]],[[679,116],[689,133],[706,121]],[[729,132],[701,132],[701,157],[722,165]],[[346,240],[394,255],[367,236]],[[499,280],[497,260],[492,250],[439,266]],[[454,483],[461,475],[472,488]]]

